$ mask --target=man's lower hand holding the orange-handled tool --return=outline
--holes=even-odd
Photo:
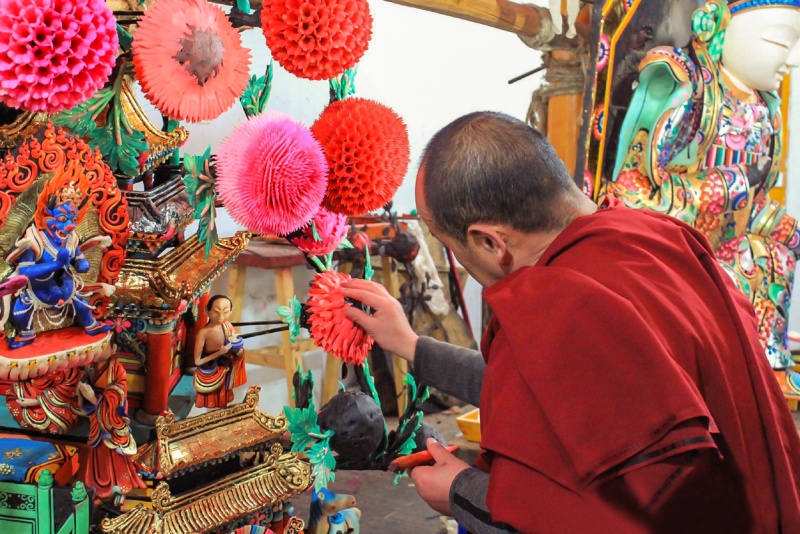
[[[431,467],[416,467],[409,475],[414,481],[417,493],[428,506],[442,515],[452,516],[450,487],[461,471],[469,469],[469,464],[447,452],[433,438],[428,439],[428,451],[436,464]]]

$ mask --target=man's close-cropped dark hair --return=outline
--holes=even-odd
[[[434,135],[422,171],[436,227],[461,242],[476,223],[560,230],[569,222],[560,200],[579,192],[541,132],[488,111],[464,115]]]

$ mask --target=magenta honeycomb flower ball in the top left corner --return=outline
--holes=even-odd
[[[119,48],[104,0],[0,1],[0,101],[57,113],[108,81]]]

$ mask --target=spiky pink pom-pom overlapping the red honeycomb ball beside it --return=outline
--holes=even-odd
[[[319,210],[325,156],[309,129],[288,115],[266,112],[237,126],[217,155],[217,192],[248,230],[286,235]]]

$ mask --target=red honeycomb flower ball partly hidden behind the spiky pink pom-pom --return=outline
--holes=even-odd
[[[334,102],[311,127],[328,160],[323,206],[364,215],[394,196],[408,170],[406,125],[390,108],[365,98]]]

